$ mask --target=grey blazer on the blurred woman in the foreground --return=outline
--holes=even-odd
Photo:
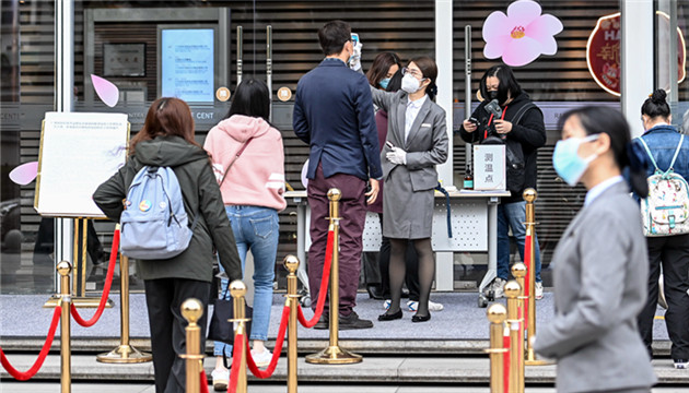
[[[584,206],[554,251],[554,319],[535,350],[558,360],[558,392],[650,389],[656,381],[637,327],[649,259],[639,205],[626,182]]]

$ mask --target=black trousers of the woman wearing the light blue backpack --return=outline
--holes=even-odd
[[[163,263],[163,262],[161,262]],[[182,317],[182,303],[196,298],[203,305],[203,315],[197,322],[201,327],[201,353],[206,349],[206,326],[210,283],[186,278],[147,279],[145,303],[151,326],[151,350],[155,372],[156,393],[186,391],[186,364],[179,357],[187,353],[187,320]]]

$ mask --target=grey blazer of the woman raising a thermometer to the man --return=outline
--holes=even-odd
[[[427,99],[411,126],[405,142],[405,114],[409,98],[399,91],[387,93],[371,87],[373,103],[387,111],[387,140],[407,152],[407,170],[410,172],[413,191],[432,190],[437,186],[435,165],[447,160],[447,127],[445,110],[431,99]],[[433,131],[432,133],[430,131]],[[395,164],[385,158],[389,147],[381,150],[383,176],[387,177]],[[387,192],[394,192],[387,190]]]

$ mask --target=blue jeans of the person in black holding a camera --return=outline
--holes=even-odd
[[[526,238],[526,202],[501,203],[498,205],[498,277],[510,278],[510,236],[512,228],[517,241],[519,257],[524,261],[524,239]],[[540,247],[536,237],[536,282],[540,283]]]

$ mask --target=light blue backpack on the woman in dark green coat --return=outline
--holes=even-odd
[[[191,228],[177,176],[170,167],[144,166],[135,176],[120,217],[120,251],[129,258],[168,259],[189,246]]]

